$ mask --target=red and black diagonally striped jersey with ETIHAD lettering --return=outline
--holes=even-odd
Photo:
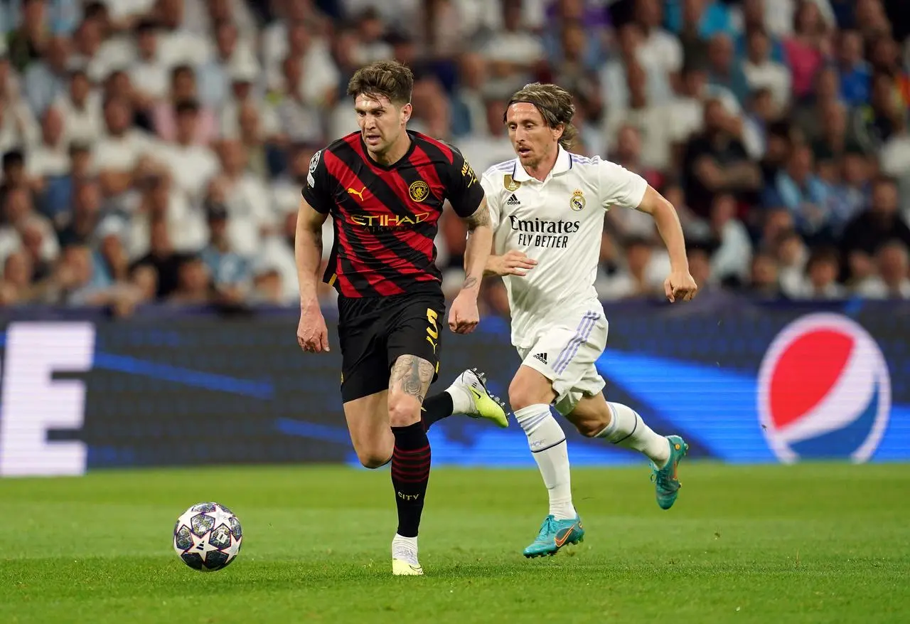
[[[335,241],[323,280],[344,297],[385,297],[439,289],[436,245],[444,202],[470,217],[483,189],[457,148],[408,130],[394,165],[369,158],[359,132],[310,160],[303,198],[331,214]]]

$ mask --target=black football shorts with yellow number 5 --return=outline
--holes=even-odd
[[[442,292],[389,297],[339,297],[341,400],[389,389],[389,373],[401,355],[416,355],[440,370]]]

